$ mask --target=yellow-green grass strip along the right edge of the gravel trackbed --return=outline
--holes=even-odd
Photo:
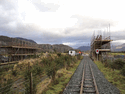
[[[109,67],[104,67],[104,64],[95,61],[95,64],[98,66],[101,72],[105,75],[105,78],[115,85],[121,94],[125,94],[125,77],[120,74],[120,70],[113,70]]]

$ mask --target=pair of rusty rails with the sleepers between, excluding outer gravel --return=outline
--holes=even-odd
[[[99,94],[92,67],[89,63],[84,64],[80,94]]]

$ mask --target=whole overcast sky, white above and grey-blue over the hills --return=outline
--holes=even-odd
[[[125,42],[124,0],[0,0],[0,35],[73,48],[90,44],[93,32],[107,31]]]

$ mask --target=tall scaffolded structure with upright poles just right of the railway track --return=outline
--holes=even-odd
[[[98,33],[97,33],[98,32]],[[102,60],[102,57],[107,56],[107,53],[111,51],[110,43],[110,30],[109,31],[97,31],[94,32],[91,38],[91,52],[90,57],[94,60]],[[96,53],[98,49],[99,53]]]

